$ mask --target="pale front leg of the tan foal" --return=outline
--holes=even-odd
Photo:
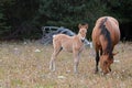
[[[78,51],[74,51],[74,73],[78,73],[78,64],[80,59],[80,53]]]

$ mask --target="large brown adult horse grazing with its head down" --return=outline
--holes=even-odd
[[[92,31],[92,43],[96,50],[96,72],[98,63],[103,74],[111,72],[110,65],[113,63],[113,48],[120,41],[119,22],[112,16],[99,18]],[[100,56],[99,56],[100,52]]]

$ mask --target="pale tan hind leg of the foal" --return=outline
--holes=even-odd
[[[55,70],[55,59],[62,50],[63,48],[61,46],[57,48],[56,47],[54,48],[54,52],[52,54],[51,62],[50,62],[50,69],[53,72]]]

